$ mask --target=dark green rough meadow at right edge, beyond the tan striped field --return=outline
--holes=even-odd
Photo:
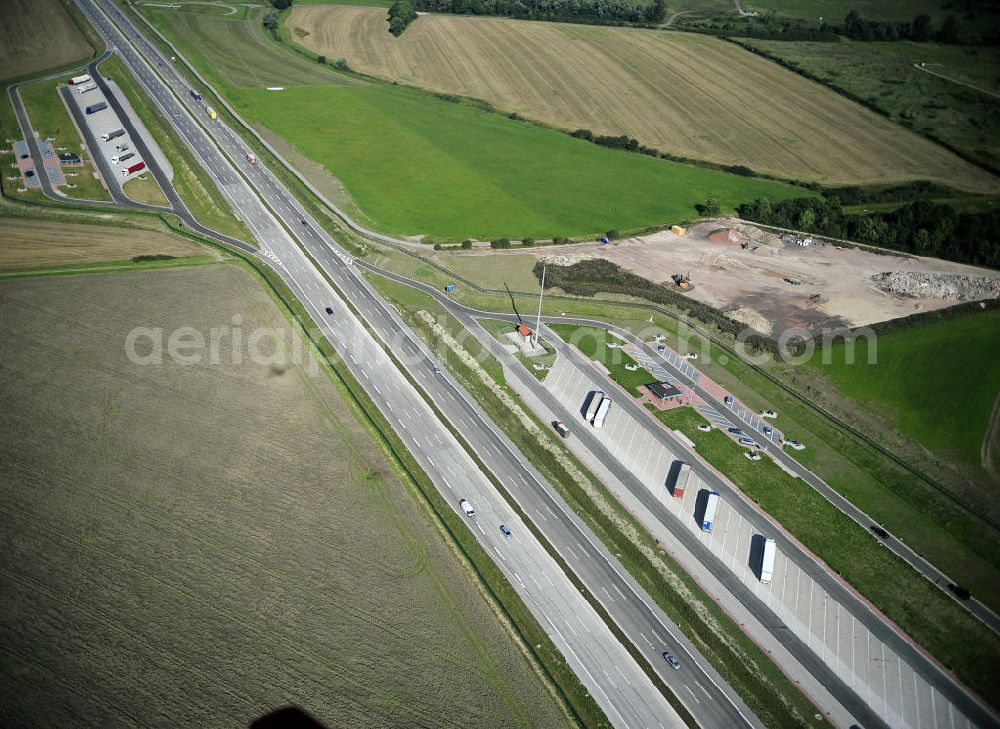
[[[1000,80],[996,75],[1000,49],[909,42],[742,42],[1000,169]],[[918,63],[925,65],[917,68]]]

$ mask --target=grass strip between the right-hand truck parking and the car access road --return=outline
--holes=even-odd
[[[752,462],[718,429],[697,430],[707,421],[690,408],[654,413],[961,680],[992,695],[1000,638],[989,628],[769,458]]]

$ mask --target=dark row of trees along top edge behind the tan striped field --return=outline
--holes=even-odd
[[[655,24],[666,15],[665,0],[635,5],[628,0],[414,0],[417,10],[458,15],[499,15],[527,20]]]

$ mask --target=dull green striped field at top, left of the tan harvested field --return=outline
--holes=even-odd
[[[267,86],[353,85],[356,81],[334,73],[294,53],[289,53],[267,37],[260,8],[241,15],[206,15],[192,8],[168,10],[140,6],[149,20],[173,43],[185,48],[185,55],[203,72],[211,70],[226,86],[264,88]]]

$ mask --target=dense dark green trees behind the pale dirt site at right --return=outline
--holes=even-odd
[[[921,256],[1000,268],[1000,210],[959,213],[931,200],[916,200],[884,213],[844,213],[840,199],[795,198],[740,205],[741,218],[831,238],[868,243]]]

